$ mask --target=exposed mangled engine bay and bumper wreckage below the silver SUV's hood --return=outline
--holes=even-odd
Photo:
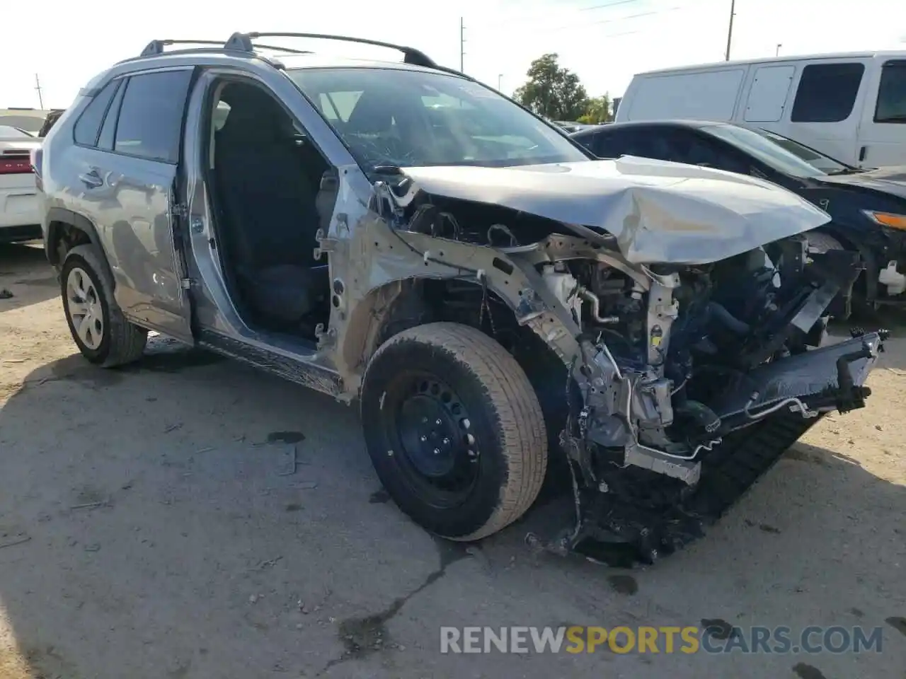
[[[822,415],[863,407],[884,332],[826,332],[860,271],[857,253],[808,255],[802,236],[697,266],[541,265],[582,329],[561,435],[576,523],[545,545],[626,542],[651,561]]]

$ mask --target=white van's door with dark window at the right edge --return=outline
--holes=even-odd
[[[859,165],[906,165],[906,59],[882,62],[870,83],[859,128]]]

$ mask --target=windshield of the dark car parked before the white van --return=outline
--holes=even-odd
[[[824,177],[853,169],[814,148],[766,129],[738,128],[734,125],[709,125],[703,129],[791,177]]]

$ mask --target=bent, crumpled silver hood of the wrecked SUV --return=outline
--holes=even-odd
[[[402,171],[409,199],[420,190],[587,226],[615,236],[632,263],[717,262],[830,221],[756,177],[649,158]]]

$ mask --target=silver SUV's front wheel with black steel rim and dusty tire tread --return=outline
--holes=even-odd
[[[390,497],[451,540],[516,521],[545,478],[545,421],[525,372],[464,325],[430,323],[381,345],[365,372],[361,420]]]

